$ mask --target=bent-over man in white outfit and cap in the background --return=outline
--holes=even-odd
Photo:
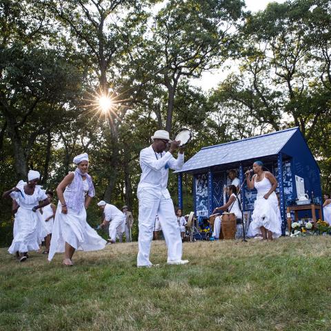
[[[110,222],[109,224],[110,243],[115,243],[117,232],[123,233],[125,230],[126,216],[117,207],[111,205],[110,203],[106,203],[103,200],[101,200],[98,203],[98,205],[105,214],[105,219],[101,224],[101,226],[105,226],[107,222],[108,223]]]

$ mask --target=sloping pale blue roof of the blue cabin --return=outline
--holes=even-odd
[[[277,154],[298,128],[202,148],[180,172]]]

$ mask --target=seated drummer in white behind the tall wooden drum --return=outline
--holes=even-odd
[[[225,205],[222,205],[221,207],[217,207],[214,209],[212,214],[216,214],[220,211],[230,210],[230,212],[233,212],[237,217],[237,224],[241,223],[241,210],[239,208],[239,203],[237,200],[237,187],[235,185],[229,185],[228,186],[228,194],[230,196],[229,200]],[[215,218],[214,223],[214,232],[212,232],[212,237],[214,239],[219,240],[219,233],[221,232],[221,216]]]

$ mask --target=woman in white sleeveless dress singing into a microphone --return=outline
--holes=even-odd
[[[281,221],[279,219],[279,205],[277,195],[277,180],[271,172],[263,171],[263,163],[255,161],[254,175],[250,178],[250,171],[245,172],[247,186],[250,190],[257,189],[257,199],[254,202],[252,223],[248,235],[254,237],[262,234],[263,240],[272,240],[281,236]]]

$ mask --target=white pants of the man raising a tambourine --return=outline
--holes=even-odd
[[[137,265],[152,265],[150,245],[152,243],[155,217],[159,215],[165,243],[168,247],[168,262],[181,260],[183,246],[174,204],[170,197],[159,197],[159,192],[146,189],[139,192],[139,237]]]

